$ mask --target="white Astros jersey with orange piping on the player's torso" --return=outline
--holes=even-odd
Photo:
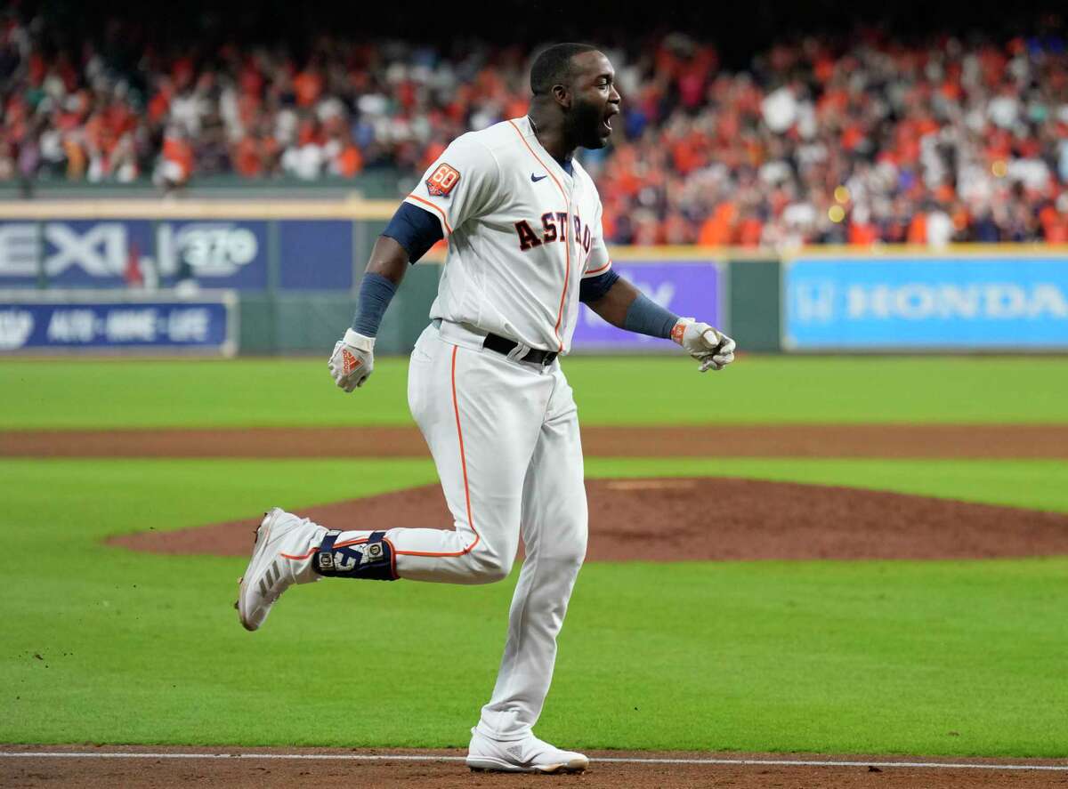
[[[566,353],[579,283],[612,265],[601,202],[579,162],[552,158],[527,117],[456,138],[405,202],[449,241],[430,317]]]

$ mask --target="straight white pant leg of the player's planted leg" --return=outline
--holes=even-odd
[[[556,660],[575,579],[586,553],[586,491],[578,413],[559,366],[555,388],[523,484],[527,556],[508,615],[508,638],[478,730],[523,737],[537,722]]]

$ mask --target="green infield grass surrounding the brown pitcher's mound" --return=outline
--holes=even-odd
[[[1064,468],[588,463],[1068,511]],[[0,741],[466,745],[514,578],[330,581],[249,634],[230,607],[242,559],[99,545],[428,483],[429,462],[2,460],[0,478]],[[538,732],[591,748],[1068,756],[1066,573],[1068,558],[590,565]]]

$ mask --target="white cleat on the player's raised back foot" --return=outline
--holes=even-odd
[[[293,584],[317,580],[309,575],[314,538],[326,532],[311,521],[274,507],[256,528],[252,558],[237,591],[237,615],[246,630],[257,630],[270,606]]]

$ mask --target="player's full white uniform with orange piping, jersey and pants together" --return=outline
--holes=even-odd
[[[529,119],[455,140],[407,202],[434,214],[449,255],[411,356],[408,403],[441,477],[454,528],[386,533],[404,579],[486,583],[505,578],[520,534],[525,559],[507,643],[478,730],[519,739],[541,712],[556,634],[586,550],[586,498],[578,414],[559,361],[516,361],[528,350],[566,353],[579,282],[611,265],[601,205],[578,162],[569,174]],[[507,356],[487,332],[519,343]],[[370,532],[344,532],[337,543]]]

